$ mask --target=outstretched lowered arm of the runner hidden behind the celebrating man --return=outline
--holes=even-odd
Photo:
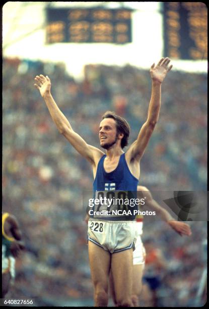
[[[153,199],[151,192],[146,187],[138,186],[137,190],[140,190],[145,199],[145,205],[156,212],[157,215],[161,217],[176,233],[179,235],[191,235],[190,226],[184,222],[176,221],[169,214],[167,210],[159,205],[159,203]],[[140,193],[139,193],[140,194]]]

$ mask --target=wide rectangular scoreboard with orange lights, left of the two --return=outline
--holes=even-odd
[[[46,43],[130,43],[129,9],[47,8]]]

